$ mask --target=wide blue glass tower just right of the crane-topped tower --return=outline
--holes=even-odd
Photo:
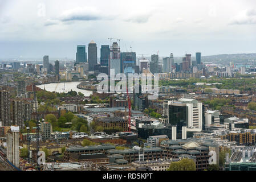
[[[121,73],[135,73],[136,53],[121,52]]]

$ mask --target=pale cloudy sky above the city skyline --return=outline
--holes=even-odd
[[[0,0],[0,59],[68,57],[91,40],[183,56],[256,52],[255,0]]]

